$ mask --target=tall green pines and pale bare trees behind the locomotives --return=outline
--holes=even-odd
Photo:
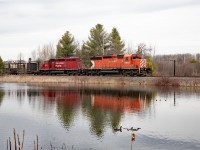
[[[113,28],[111,33],[105,31],[103,25],[97,24],[90,30],[87,41],[82,45],[76,41],[75,37],[66,31],[56,45],[54,50],[50,43],[39,47],[32,52],[34,60],[43,61],[50,58],[63,58],[79,56],[84,64],[89,63],[89,57],[94,55],[123,54],[125,52],[125,43],[121,39],[117,28]]]

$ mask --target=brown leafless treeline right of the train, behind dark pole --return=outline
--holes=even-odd
[[[176,76],[200,76],[200,54],[156,55],[153,57],[156,75],[173,76],[174,60]]]

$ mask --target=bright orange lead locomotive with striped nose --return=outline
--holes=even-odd
[[[147,68],[146,59],[138,54],[121,54],[109,56],[93,56],[91,72],[94,74],[121,74],[124,76],[146,76],[151,74]]]

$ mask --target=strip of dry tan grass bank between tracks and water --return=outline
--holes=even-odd
[[[70,83],[95,84],[112,86],[182,86],[200,87],[200,77],[110,77],[110,76],[34,76],[4,75],[0,76],[3,83]]]

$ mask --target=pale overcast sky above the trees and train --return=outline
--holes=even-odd
[[[0,56],[25,59],[69,31],[86,41],[97,23],[156,54],[200,53],[200,0],[0,0]]]

